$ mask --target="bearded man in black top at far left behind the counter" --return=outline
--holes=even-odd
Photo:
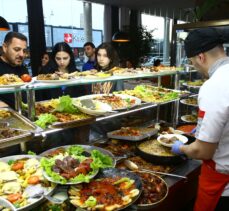
[[[9,32],[5,36],[2,44],[3,54],[0,56],[0,75],[15,74],[21,77],[23,74],[28,74],[27,68],[23,66],[26,48],[27,38],[23,34]],[[1,94],[0,99],[14,108],[13,94]]]

